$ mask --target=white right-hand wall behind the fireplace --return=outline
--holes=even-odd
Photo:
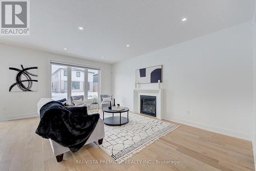
[[[163,65],[165,119],[251,140],[251,22],[115,63],[116,102],[133,109],[135,70],[156,65]]]

